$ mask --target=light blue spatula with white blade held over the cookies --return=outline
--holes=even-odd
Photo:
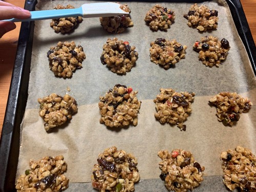
[[[84,18],[89,17],[109,17],[116,15],[129,14],[120,8],[121,4],[105,2],[105,3],[89,3],[83,4],[76,9],[53,9],[44,11],[31,11],[31,17],[27,19],[6,19],[3,21],[9,22],[29,22],[31,20],[43,20],[61,17],[76,17],[82,16]]]

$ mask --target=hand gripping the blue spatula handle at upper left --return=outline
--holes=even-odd
[[[28,10],[0,1],[0,38],[8,31],[16,28],[13,22],[1,22],[1,20],[10,18],[23,19],[30,16],[31,13]]]

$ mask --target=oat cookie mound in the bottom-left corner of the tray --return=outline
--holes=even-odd
[[[15,188],[22,191],[62,191],[69,187],[69,179],[63,175],[67,163],[63,156],[44,157],[39,161],[31,160],[25,175],[20,175]]]

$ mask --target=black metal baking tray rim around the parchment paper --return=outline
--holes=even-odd
[[[148,1],[162,2],[162,1]],[[191,1],[165,1],[189,2]],[[204,1],[194,1],[204,2]],[[238,33],[249,56],[252,69],[256,74],[256,48],[239,0],[226,0]],[[37,1],[27,0],[25,9],[33,11]],[[32,53],[34,22],[24,22],[20,28],[17,54],[14,63],[6,115],[0,143],[0,191],[15,191],[15,176],[19,153],[20,123],[28,98],[30,60]]]

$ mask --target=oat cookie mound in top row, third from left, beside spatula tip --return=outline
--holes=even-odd
[[[145,22],[150,26],[153,31],[158,29],[166,31],[174,22],[175,13],[171,9],[155,5],[152,7],[144,18]]]

